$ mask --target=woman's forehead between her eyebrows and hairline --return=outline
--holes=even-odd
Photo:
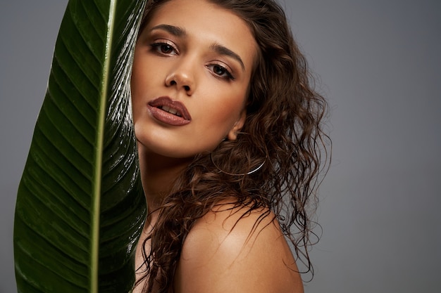
[[[254,36],[242,18],[233,11],[206,0],[170,0],[150,16],[144,30],[157,25],[173,25],[200,45],[221,44],[252,64],[257,52]]]

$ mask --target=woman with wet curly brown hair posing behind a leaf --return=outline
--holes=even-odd
[[[325,101],[271,0],[147,1],[134,292],[303,292]],[[295,229],[294,229],[295,228]]]

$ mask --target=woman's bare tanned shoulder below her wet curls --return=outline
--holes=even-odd
[[[274,214],[247,210],[225,204],[195,223],[182,247],[176,292],[303,292]]]

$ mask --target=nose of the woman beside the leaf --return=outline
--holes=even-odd
[[[191,64],[180,63],[173,67],[166,77],[166,86],[176,86],[178,90],[183,89],[187,96],[191,96],[195,87]]]

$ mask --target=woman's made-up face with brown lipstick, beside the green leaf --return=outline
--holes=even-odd
[[[132,107],[150,152],[192,157],[236,138],[257,45],[247,24],[205,0],[171,0],[135,48]]]

